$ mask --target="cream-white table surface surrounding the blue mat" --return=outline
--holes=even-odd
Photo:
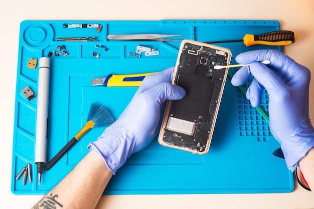
[[[314,71],[313,0],[5,0],[0,6],[2,132],[0,207],[29,208],[42,195],[14,195],[11,187],[19,27],[23,20],[274,19],[297,41],[283,50]],[[310,117],[314,118],[314,84]],[[239,166],[241,166],[239,162]],[[91,194],[92,195],[92,194]],[[290,193],[106,195],[97,208],[314,208],[314,195],[295,183]]]

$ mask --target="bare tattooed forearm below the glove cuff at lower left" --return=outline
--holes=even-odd
[[[102,157],[91,150],[32,208],[95,208],[112,175]]]

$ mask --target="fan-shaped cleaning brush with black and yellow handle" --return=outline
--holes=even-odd
[[[49,170],[75,142],[85,135],[93,127],[110,125],[114,122],[110,112],[98,103],[92,103],[87,116],[87,122],[82,129],[46,164],[44,169]]]

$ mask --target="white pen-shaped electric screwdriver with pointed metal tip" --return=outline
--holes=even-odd
[[[43,166],[46,163],[49,74],[50,59],[41,57],[38,69],[35,139],[35,163],[37,164],[38,184],[41,183]]]

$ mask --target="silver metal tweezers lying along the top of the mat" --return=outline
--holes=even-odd
[[[171,39],[165,37],[182,36],[167,34],[112,34],[107,35],[109,40],[156,40],[156,41],[181,41],[182,39]]]

